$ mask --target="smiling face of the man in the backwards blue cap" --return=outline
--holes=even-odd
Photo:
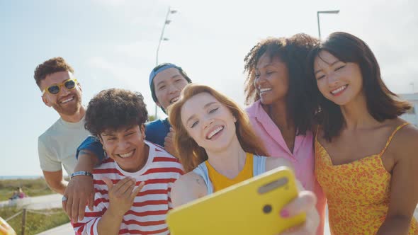
[[[157,97],[157,105],[164,110],[179,100],[183,88],[188,84],[179,69],[169,68],[160,71],[152,81]]]

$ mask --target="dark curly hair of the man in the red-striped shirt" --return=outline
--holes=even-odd
[[[84,127],[100,137],[106,130],[120,130],[147,122],[147,105],[139,92],[111,88],[98,93],[89,102]]]

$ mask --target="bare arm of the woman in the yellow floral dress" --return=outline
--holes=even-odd
[[[395,156],[390,181],[389,210],[378,234],[408,234],[418,202],[418,130],[407,126],[392,140],[390,153]],[[389,150],[389,149],[388,149]]]

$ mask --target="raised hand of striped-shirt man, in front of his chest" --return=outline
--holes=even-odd
[[[122,217],[123,214],[130,210],[135,197],[145,185],[145,182],[142,181],[135,188],[135,179],[130,177],[119,180],[115,185],[113,185],[112,180],[109,178],[103,178],[103,181],[108,185],[109,211],[116,216]]]

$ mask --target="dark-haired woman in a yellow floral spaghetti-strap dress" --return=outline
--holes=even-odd
[[[309,63],[320,107],[315,175],[332,234],[418,234],[418,129],[399,117],[411,106],[354,35],[332,33]]]

